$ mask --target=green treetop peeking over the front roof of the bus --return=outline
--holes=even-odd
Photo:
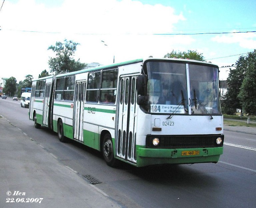
[[[188,52],[176,52],[172,50],[171,53],[167,53],[164,58],[182,58],[182,59],[192,59],[198,61],[205,61],[203,54],[197,51],[188,50]]]

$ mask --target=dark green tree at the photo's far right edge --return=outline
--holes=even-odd
[[[248,113],[247,123],[249,123],[250,116],[256,114],[256,50],[249,53],[245,60],[246,76],[238,97],[243,103],[243,109]]]

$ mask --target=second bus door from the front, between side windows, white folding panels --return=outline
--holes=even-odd
[[[77,81],[75,88],[75,101],[74,101],[74,139],[81,142],[83,139],[83,117],[84,117],[84,100],[85,100],[85,81]]]

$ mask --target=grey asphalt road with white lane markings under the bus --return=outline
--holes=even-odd
[[[21,108],[19,101],[0,99],[0,115],[36,140],[60,164],[80,176],[97,179],[100,183],[95,186],[123,207],[256,207],[255,134],[224,128],[224,154],[217,164],[144,168],[123,164],[111,168],[99,152],[73,141],[61,143],[56,133],[46,128],[35,129],[28,109]]]

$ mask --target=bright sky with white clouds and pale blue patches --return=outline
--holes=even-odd
[[[256,49],[255,0],[0,0],[1,6],[0,79],[17,82],[50,72],[55,54],[48,47],[65,39],[79,43],[75,60],[103,65],[113,57],[118,63],[196,50],[220,67],[221,80],[229,69],[221,67]]]

